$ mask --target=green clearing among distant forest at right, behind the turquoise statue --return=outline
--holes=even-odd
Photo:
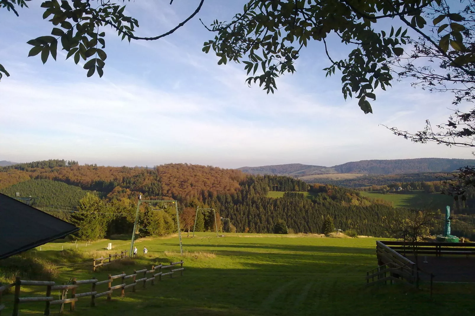
[[[433,207],[445,209],[446,205],[452,206],[453,199],[448,195],[433,193],[427,194],[422,190],[412,191],[410,194],[382,194],[375,192],[361,191],[362,196],[371,197],[392,202],[395,207]]]

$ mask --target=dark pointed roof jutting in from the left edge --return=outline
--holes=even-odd
[[[0,259],[77,230],[73,224],[0,193]]]

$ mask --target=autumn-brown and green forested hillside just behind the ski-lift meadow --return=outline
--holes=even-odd
[[[68,186],[58,185],[58,181]],[[152,169],[77,164],[67,167],[67,162],[64,167],[63,161],[24,164],[1,169],[0,186],[10,195],[19,192],[17,190],[21,190],[23,196],[63,194],[71,195],[71,201],[84,193],[71,186],[95,191],[95,198],[86,194],[86,201],[80,202],[79,206],[84,210],[104,209],[108,215],[96,216],[101,225],[107,224],[101,229],[104,234],[131,233],[134,220],[131,214],[134,214],[139,193],[144,199],[178,200],[181,214],[191,210],[191,222],[197,206],[212,207],[218,218],[229,218],[237,232],[274,232],[276,223],[285,221],[294,232],[321,233],[324,219],[330,216],[336,228],[384,236],[383,219],[395,212],[387,202],[372,201],[351,189],[309,186],[292,177],[246,176],[239,170],[188,164],[168,164]],[[39,192],[40,187],[47,192]],[[272,198],[268,197],[269,190],[293,193]],[[63,204],[64,201],[56,203]],[[146,209],[141,211],[140,225],[145,227],[152,219],[147,217],[150,212]],[[54,211],[51,214],[57,215]],[[61,216],[66,216],[63,217],[66,220],[68,216],[73,221],[78,220],[75,213],[61,213]],[[160,216],[168,218],[165,222],[172,218],[165,213]],[[210,216],[205,214],[200,229],[213,229],[214,221]],[[169,231],[164,229],[158,233]]]

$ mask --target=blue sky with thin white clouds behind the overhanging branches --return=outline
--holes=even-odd
[[[104,76],[86,77],[81,65],[58,53],[45,65],[27,57],[26,42],[49,35],[41,1],[20,17],[0,12],[0,160],[77,160],[80,164],[155,166],[193,163],[225,168],[285,163],[333,166],[364,159],[473,158],[471,149],[415,144],[382,125],[417,131],[425,120],[447,121],[452,95],[394,82],[377,91],[373,114],[344,100],[340,74],[319,42],[311,42],[296,73],[266,94],[248,87],[242,64],[217,65],[201,51],[214,37],[199,22],[229,20],[245,1],[205,0],[195,17],[158,41],[121,41],[108,28]],[[175,27],[199,0],[136,0],[127,5],[140,23],[136,35],[156,36]],[[330,53],[349,48],[336,40]],[[461,110],[470,108],[462,104]]]

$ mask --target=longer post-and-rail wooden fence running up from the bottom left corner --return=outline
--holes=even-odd
[[[177,268],[177,265],[180,265],[180,268]],[[168,269],[168,270],[167,270]],[[142,284],[142,288],[146,288],[146,283],[150,282],[151,285],[154,284],[154,280],[158,278],[159,281],[162,280],[163,276],[170,276],[173,278],[173,274],[176,272],[180,272],[180,275],[183,276],[183,261],[178,262],[170,262],[169,265],[162,265],[159,264],[157,266],[152,266],[150,270],[142,269],[142,270],[133,270],[133,273],[130,275],[122,274],[118,275],[111,275],[109,274],[108,278],[102,281],[97,279],[89,279],[89,280],[77,280],[76,278],[72,279],[72,284],[68,285],[56,285],[55,282],[52,281],[28,281],[28,280],[21,280],[19,277],[16,278],[15,283],[4,285],[0,287],[0,315],[1,310],[5,308],[4,305],[1,305],[1,295],[2,292],[8,288],[15,287],[15,299],[13,305],[13,313],[12,316],[18,316],[19,313],[19,304],[21,303],[28,303],[28,302],[46,302],[45,313],[44,315],[49,315],[50,306],[56,304],[71,304],[70,310],[74,311],[76,308],[76,302],[81,297],[91,297],[91,307],[95,306],[95,299],[97,297],[107,295],[107,301],[111,300],[111,297],[114,293],[114,290],[121,290],[121,297],[125,296],[125,290],[127,288],[132,288],[132,292],[135,292],[135,288]],[[113,285],[115,279],[120,279],[120,284]],[[125,281],[126,279],[132,279],[132,283],[127,284]],[[77,293],[81,285],[90,284],[91,289],[88,292],[81,292]],[[107,284],[107,290],[104,292],[97,292],[96,286]],[[44,297],[20,297],[21,294],[21,286],[46,286],[46,296]],[[54,297],[51,296],[52,290],[63,290],[63,294],[65,290],[71,289],[71,297],[67,298],[65,295],[64,299],[55,300]]]

